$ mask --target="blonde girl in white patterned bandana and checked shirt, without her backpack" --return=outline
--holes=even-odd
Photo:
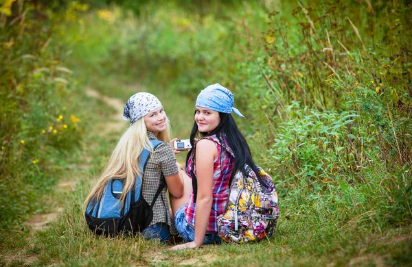
[[[143,173],[142,195],[152,203],[162,174],[167,188],[163,188],[152,208],[153,219],[150,225],[141,231],[148,239],[157,238],[167,241],[176,229],[170,218],[166,189],[170,196],[179,198],[183,194],[181,168],[176,164],[176,157],[170,147],[170,123],[159,99],[148,92],[138,92],[128,99],[124,106],[124,119],[130,120],[113,151],[108,164],[85,201],[99,199],[110,179],[124,179],[123,193],[119,201],[123,203],[126,192],[135,186],[135,177]],[[163,141],[153,149],[150,139]],[[146,167],[139,169],[139,156],[143,149],[150,151]]]

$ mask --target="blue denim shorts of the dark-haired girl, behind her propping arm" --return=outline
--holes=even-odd
[[[194,240],[194,228],[192,225],[187,223],[185,218],[185,205],[179,207],[176,214],[174,214],[174,224],[176,225],[179,235],[185,242],[192,242]],[[218,232],[207,232],[205,234],[205,239],[203,240],[203,244],[214,244],[220,242],[221,240],[218,236]]]

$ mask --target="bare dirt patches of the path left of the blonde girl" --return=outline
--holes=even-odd
[[[100,99],[104,101],[108,106],[113,107],[116,112],[111,116],[111,119],[108,121],[104,121],[102,123],[102,130],[100,131],[100,136],[104,136],[107,133],[113,132],[113,131],[119,131],[119,129],[124,129],[124,126],[127,124],[126,120],[123,120],[123,109],[124,109],[124,103],[120,101],[119,99],[113,99],[111,97],[106,97],[102,94],[100,94],[98,91],[92,89],[92,88],[87,88],[87,96],[93,97],[95,99]],[[103,125],[104,124],[104,125]],[[78,165],[78,168],[89,168],[89,164],[87,162],[90,162],[91,159],[85,159],[86,164],[81,164]],[[56,192],[57,194],[61,194],[64,192],[73,192],[76,190],[76,183],[78,181],[76,179],[73,179],[73,177],[70,176],[69,180],[68,179],[60,179],[58,185],[56,186]],[[46,229],[49,227],[49,224],[52,223],[56,218],[58,217],[58,214],[63,211],[63,207],[56,207],[54,211],[44,213],[44,214],[35,214],[30,220],[26,222],[26,225],[32,229],[32,232],[36,232],[38,230]]]

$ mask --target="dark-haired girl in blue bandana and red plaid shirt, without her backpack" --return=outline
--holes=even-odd
[[[225,212],[230,181],[237,170],[244,171],[244,164],[255,168],[231,112],[244,118],[233,107],[233,94],[220,84],[207,86],[196,99],[193,148],[186,158],[187,175],[182,172],[184,193],[179,199],[170,197],[177,231],[186,243],[173,250],[219,243],[217,217]]]

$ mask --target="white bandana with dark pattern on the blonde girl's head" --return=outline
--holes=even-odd
[[[161,107],[161,103],[157,97],[148,92],[138,92],[133,94],[124,105],[123,119],[130,120],[132,125],[136,120],[142,118],[157,107]]]

